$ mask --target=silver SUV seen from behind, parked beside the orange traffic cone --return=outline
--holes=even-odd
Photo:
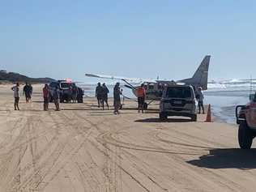
[[[191,117],[197,121],[196,100],[194,89],[188,85],[169,85],[164,88],[160,101],[160,120],[166,120],[168,116]]]

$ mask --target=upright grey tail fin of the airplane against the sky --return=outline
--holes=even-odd
[[[210,55],[205,56],[193,77],[190,79],[183,79],[181,82],[193,85],[194,87],[202,87],[203,90],[207,90],[210,58]]]

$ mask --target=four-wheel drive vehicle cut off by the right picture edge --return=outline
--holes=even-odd
[[[238,105],[236,109],[238,142],[242,149],[250,149],[256,137],[256,94],[250,96],[250,103]]]

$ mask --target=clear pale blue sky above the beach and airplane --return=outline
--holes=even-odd
[[[256,77],[256,1],[2,1],[0,68],[54,79],[85,72]]]

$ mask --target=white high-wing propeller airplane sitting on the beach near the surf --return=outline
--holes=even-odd
[[[94,74],[85,74],[87,77],[93,77],[97,79],[113,79],[121,80],[126,83],[125,87],[128,87],[132,90],[134,96],[137,97],[137,90],[141,83],[144,84],[146,90],[146,100],[150,100],[149,103],[145,102],[144,109],[147,109],[147,106],[150,105],[155,100],[161,100],[162,93],[165,86],[173,84],[186,84],[194,87],[195,92],[197,92],[198,87],[202,87],[203,90],[207,90],[208,83],[208,70],[210,64],[211,55],[207,55],[203,58],[200,66],[195,71],[194,75],[190,79],[182,79],[178,81],[173,80],[160,80],[157,77],[156,80],[143,80],[138,78],[122,78],[109,75],[94,75]],[[136,84],[136,85],[134,85]],[[139,85],[139,86],[138,86]]]

